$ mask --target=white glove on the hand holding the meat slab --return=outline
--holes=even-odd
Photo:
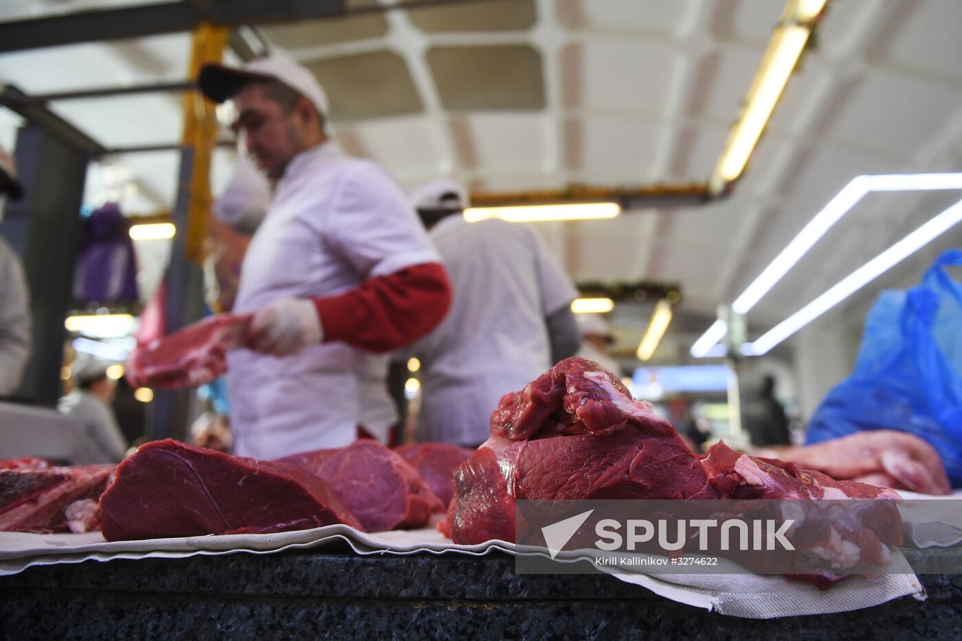
[[[246,345],[274,356],[288,356],[324,338],[314,303],[306,298],[281,298],[254,314]]]

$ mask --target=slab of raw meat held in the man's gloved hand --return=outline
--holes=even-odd
[[[250,314],[219,314],[148,345],[127,363],[133,387],[196,387],[227,372],[226,354],[243,344]]]

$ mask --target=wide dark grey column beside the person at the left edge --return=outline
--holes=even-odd
[[[25,195],[7,205],[3,232],[27,274],[34,343],[17,396],[53,405],[61,396],[63,319],[72,299],[89,149],[28,124],[14,154]]]

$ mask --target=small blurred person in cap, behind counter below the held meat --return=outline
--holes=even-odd
[[[57,409],[82,423],[84,432],[103,455],[103,460],[91,463],[119,463],[128,445],[111,408],[116,382],[107,376],[107,368],[90,362],[77,366],[73,379],[76,389],[60,399]]]

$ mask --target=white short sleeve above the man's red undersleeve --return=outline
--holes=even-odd
[[[365,278],[441,262],[400,186],[373,163],[347,170],[329,229],[332,243]]]

